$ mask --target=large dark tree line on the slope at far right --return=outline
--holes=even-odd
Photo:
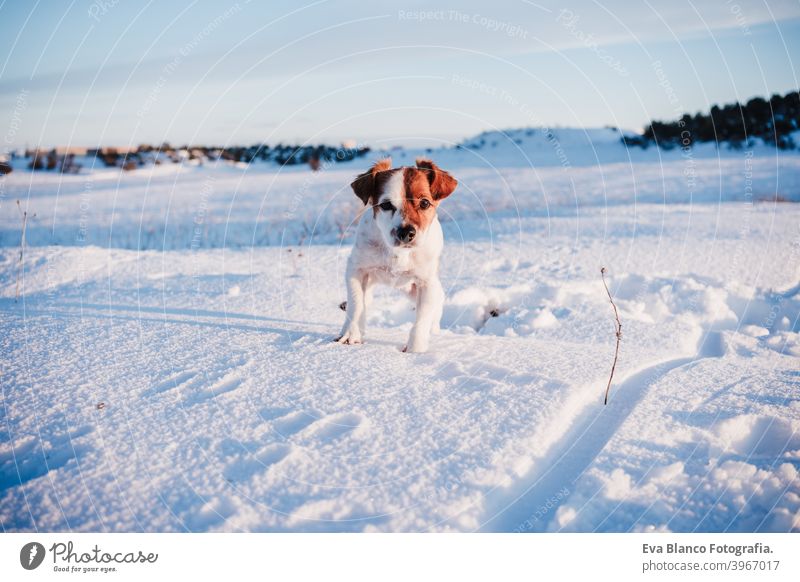
[[[792,132],[800,128],[800,93],[773,95],[769,101],[754,97],[744,105],[714,105],[708,114],[685,114],[677,121],[653,121],[640,136],[624,136],[623,143],[669,149],[699,142],[728,143],[740,148],[754,138],[780,149],[795,149]]]

